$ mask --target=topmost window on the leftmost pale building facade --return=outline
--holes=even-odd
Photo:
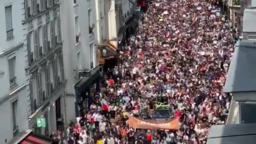
[[[12,28],[12,5],[5,7],[6,39],[13,37]]]

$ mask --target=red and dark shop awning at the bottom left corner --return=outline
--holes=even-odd
[[[19,144],[57,144],[57,141],[47,138],[43,135],[30,132]]]

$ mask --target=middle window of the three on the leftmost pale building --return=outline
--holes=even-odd
[[[13,58],[8,60],[10,87],[17,84],[16,83],[16,77],[15,77],[15,61],[16,61],[16,57],[13,57]]]

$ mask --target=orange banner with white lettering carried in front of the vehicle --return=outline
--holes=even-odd
[[[136,117],[129,117],[129,127],[133,129],[163,129],[163,130],[179,130],[179,119],[175,118],[170,121],[159,123],[156,121],[148,121]]]

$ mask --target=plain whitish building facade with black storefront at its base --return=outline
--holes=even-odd
[[[95,1],[62,1],[60,12],[61,26],[65,28],[62,29],[62,44],[67,78],[65,87],[67,122],[69,122],[78,115],[78,101],[83,99],[88,105],[89,89],[99,81],[99,78],[87,81],[93,77],[90,74],[98,74],[99,70],[98,50],[95,46],[97,44]],[[79,92],[74,89],[75,87]]]

